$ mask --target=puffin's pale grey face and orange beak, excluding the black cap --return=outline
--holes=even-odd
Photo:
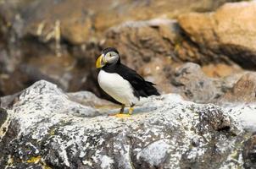
[[[103,68],[106,64],[115,64],[120,59],[120,56],[117,52],[107,52],[103,53],[101,56],[97,58],[96,68]]]

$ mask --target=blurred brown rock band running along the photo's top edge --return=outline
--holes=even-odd
[[[0,5],[19,35],[36,35],[43,41],[60,36],[73,44],[92,41],[96,34],[126,20],[174,17],[188,11],[209,11],[228,0],[96,0],[56,1],[10,0]],[[10,12],[12,11],[12,12]],[[1,13],[0,13],[1,14]]]

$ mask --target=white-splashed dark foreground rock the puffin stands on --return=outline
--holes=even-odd
[[[0,168],[244,165],[242,141],[247,134],[237,119],[219,106],[184,101],[179,95],[149,97],[131,117],[116,118],[71,101],[56,85],[41,80],[22,91],[7,112],[0,130],[6,128]],[[246,152],[245,157],[252,151]]]

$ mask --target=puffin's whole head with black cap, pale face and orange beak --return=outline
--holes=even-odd
[[[103,68],[105,65],[120,63],[119,52],[114,47],[103,49],[102,55],[97,58],[96,68]]]

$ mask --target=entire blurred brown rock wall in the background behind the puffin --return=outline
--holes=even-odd
[[[46,79],[103,97],[94,63],[114,46],[162,93],[255,101],[255,16],[254,1],[0,0],[0,96]]]

